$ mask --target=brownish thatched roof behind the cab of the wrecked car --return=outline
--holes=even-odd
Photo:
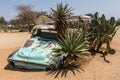
[[[51,18],[48,18],[47,16],[40,16],[39,18],[36,19],[35,23],[37,25],[45,24],[45,23],[54,23],[54,20],[52,20]]]

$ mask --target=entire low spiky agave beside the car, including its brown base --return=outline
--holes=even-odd
[[[86,40],[82,32],[67,31],[64,36],[60,36],[58,43],[61,48],[55,49],[54,52],[58,53],[55,56],[63,56],[63,63],[69,64],[72,61],[77,61],[80,55],[88,53]]]

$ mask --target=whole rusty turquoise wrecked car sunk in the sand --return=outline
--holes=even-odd
[[[60,65],[62,57],[54,57],[53,49],[60,48],[56,42],[57,32],[53,25],[36,25],[32,36],[8,57],[11,67],[53,70]]]

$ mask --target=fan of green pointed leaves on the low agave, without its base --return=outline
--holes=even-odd
[[[61,49],[59,52],[61,54],[67,54],[67,56],[85,55],[88,53],[86,47],[86,40],[83,38],[83,34],[78,31],[67,31],[64,36],[60,36],[58,40]]]

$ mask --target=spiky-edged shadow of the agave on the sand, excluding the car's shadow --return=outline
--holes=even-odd
[[[48,71],[47,75],[52,75],[54,78],[57,77],[65,77],[69,72],[71,72],[73,75],[76,75],[76,73],[81,73],[84,71],[84,68],[89,64],[89,62],[93,59],[92,56],[87,56],[83,58],[78,58],[77,62],[71,63],[68,65],[60,66],[56,70],[50,70]]]

